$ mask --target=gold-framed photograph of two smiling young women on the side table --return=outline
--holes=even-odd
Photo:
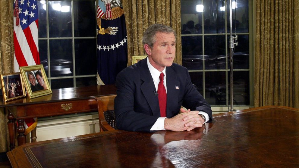
[[[52,93],[44,67],[32,65],[20,67],[27,94],[29,98],[36,98]]]

